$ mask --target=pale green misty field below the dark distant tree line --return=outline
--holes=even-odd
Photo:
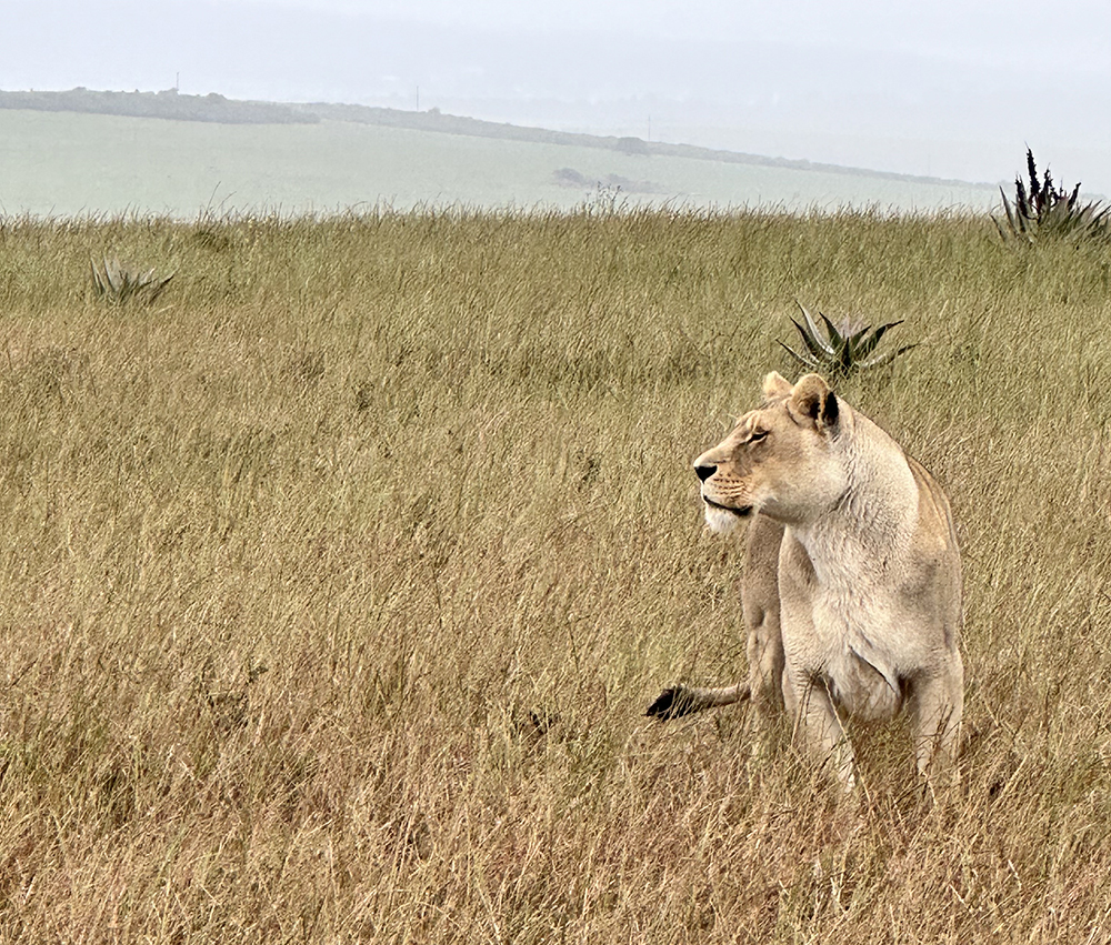
[[[489,130],[489,123],[473,124]],[[1002,167],[999,173],[1007,178],[1013,170]],[[999,202],[994,189],[971,184],[648,157],[354,121],[218,124],[0,109],[0,212],[8,214],[140,212],[189,220],[204,210],[573,209],[612,199],[614,181],[619,199],[631,204],[937,210]]]

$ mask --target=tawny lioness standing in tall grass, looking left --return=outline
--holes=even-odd
[[[964,703],[961,565],[933,477],[817,374],[772,372],[764,403],[694,461],[708,525],[750,520],[742,610],[749,682],[677,686],[670,718],[752,697],[855,784],[848,718],[910,714],[918,770],[953,758]],[[780,698],[782,697],[782,702]]]

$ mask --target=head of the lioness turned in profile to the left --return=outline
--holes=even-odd
[[[729,531],[753,512],[787,524],[812,521],[848,489],[837,449],[847,418],[829,384],[807,374],[792,386],[772,371],[763,394],[763,405],[694,461],[714,531]]]

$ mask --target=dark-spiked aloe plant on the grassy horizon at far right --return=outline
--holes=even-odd
[[[1030,177],[1029,187],[1022,183],[1022,178],[1014,178],[1013,205],[1003,189],[999,189],[1007,218],[1002,222],[998,217],[992,217],[992,220],[1003,240],[1033,243],[1043,237],[1074,240],[1111,237],[1111,219],[1108,218],[1111,208],[1102,205],[1098,200],[1081,204],[1080,184],[1071,192],[1054,185],[1049,168],[1045,168],[1039,180],[1033,151],[1029,148],[1027,173]]]

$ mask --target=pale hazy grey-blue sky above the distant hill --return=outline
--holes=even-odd
[[[1111,194],[1111,3],[6,0],[0,88],[439,108]],[[180,77],[180,78],[179,78]]]

